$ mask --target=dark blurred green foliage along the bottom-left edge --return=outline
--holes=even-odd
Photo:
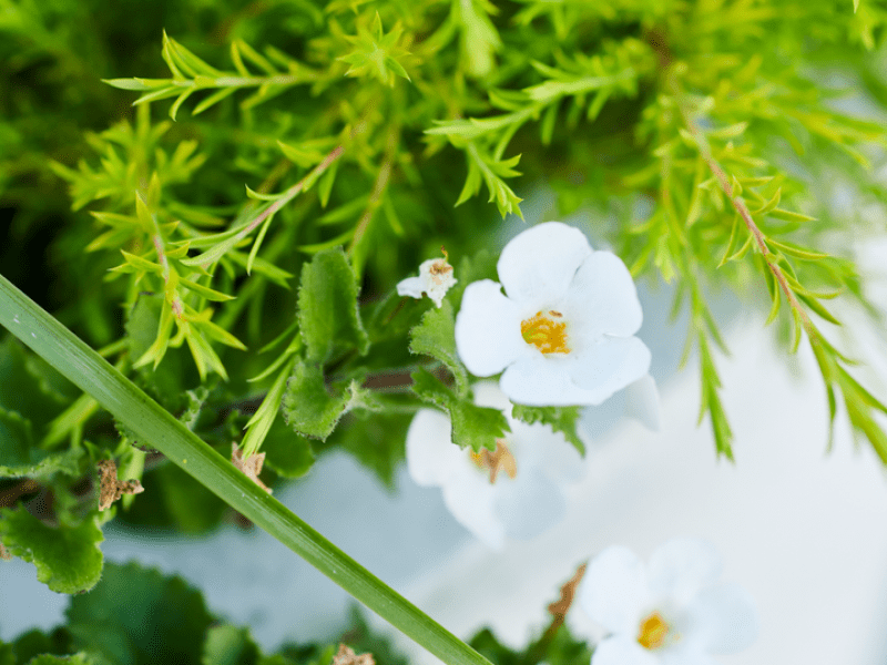
[[[343,641],[379,665],[406,662],[355,611]],[[109,563],[89,594],[71,596],[65,623],[0,641],[3,665],[328,665],[337,644],[284,644],[265,654],[248,628],[213,615],[181,577],[135,563]]]

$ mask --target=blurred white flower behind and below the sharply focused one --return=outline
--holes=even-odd
[[[561,485],[579,480],[583,466],[563,434],[511,418],[511,403],[495,383],[473,389],[476,403],[502,409],[511,426],[496,452],[460,449],[450,439],[449,417],[421,409],[407,432],[407,468],[417,484],[440,487],[456,520],[498,549],[507,535],[528,540],[562,518]]]

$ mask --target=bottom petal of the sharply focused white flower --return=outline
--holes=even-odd
[[[582,390],[570,379],[567,358],[546,358],[532,352],[506,369],[499,387],[509,399],[531,407],[569,407],[594,403],[597,393]]]

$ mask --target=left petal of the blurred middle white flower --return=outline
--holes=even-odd
[[[450,439],[450,419],[435,409],[419,409],[407,430],[407,469],[416,484],[440,485],[465,461],[466,451]]]

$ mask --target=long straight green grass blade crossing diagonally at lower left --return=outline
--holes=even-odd
[[[2,275],[0,325],[94,397],[144,442],[438,658],[452,665],[490,665],[259,489]]]

